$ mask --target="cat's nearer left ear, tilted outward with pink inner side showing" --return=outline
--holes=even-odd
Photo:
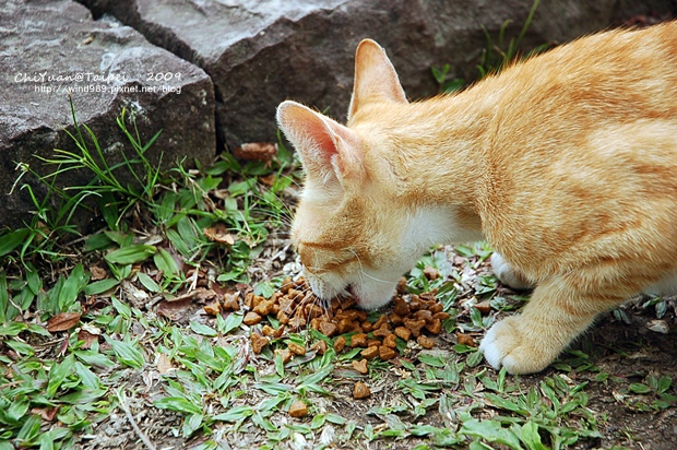
[[[277,123],[299,153],[309,180],[331,186],[361,171],[361,140],[347,127],[290,100],[277,107]]]

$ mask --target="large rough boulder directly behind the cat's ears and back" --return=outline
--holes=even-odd
[[[110,13],[152,43],[204,69],[214,82],[222,141],[275,139],[275,106],[294,98],[343,119],[353,55],[371,37],[391,56],[407,94],[432,95],[430,67],[465,80],[496,39],[516,36],[531,0],[156,1],[80,0]],[[633,14],[666,13],[672,0],[543,0],[524,48],[599,31]]]

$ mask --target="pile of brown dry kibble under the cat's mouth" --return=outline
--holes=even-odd
[[[249,312],[245,315],[244,322],[250,327],[260,325],[271,315],[280,323],[277,329],[271,324],[252,329],[251,344],[257,354],[285,332],[312,328],[328,338],[335,338],[333,346],[336,353],[361,348],[359,355],[363,360],[355,365],[355,369],[365,374],[367,360],[377,357],[389,360],[397,356],[397,339],[405,342],[414,340],[424,348],[432,348],[435,341],[430,335],[439,334],[442,322],[449,318],[442,304],[435,298],[435,292],[411,295],[406,301],[405,288],[403,279],[392,310],[370,322],[367,311],[358,309],[353,298],[334,299],[323,307],[302,279],[285,279],[281,288],[268,299],[253,293],[247,294],[245,306]],[[310,350],[322,355],[326,348],[326,342],[319,341]],[[289,343],[284,354],[276,352],[287,362],[295,355],[305,355],[306,348]]]

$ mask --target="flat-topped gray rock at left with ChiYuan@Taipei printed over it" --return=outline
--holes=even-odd
[[[110,165],[122,161],[122,150],[133,155],[116,125],[122,108],[142,141],[164,130],[147,152],[153,164],[161,154],[165,166],[183,157],[209,163],[215,154],[214,91],[204,71],[128,26],[94,21],[79,3],[8,0],[0,9],[0,227],[20,226],[35,210],[27,190],[9,194],[16,164],[46,175],[55,167],[34,155],[75,150],[64,131],[74,131],[69,90],[78,121],[93,130]],[[90,179],[83,173],[59,177],[62,186]]]

